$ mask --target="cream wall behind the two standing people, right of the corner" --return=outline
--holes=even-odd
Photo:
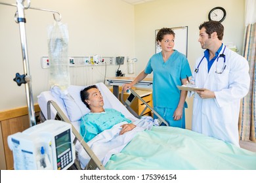
[[[139,60],[137,74],[144,69],[148,59],[155,53],[155,30],[161,27],[188,26],[188,61],[190,67],[194,68],[196,58],[203,52],[198,42],[198,26],[208,20],[208,13],[214,7],[226,9],[223,42],[234,42],[241,54],[244,6],[244,0],[156,0],[135,5],[135,55]],[[186,101],[186,127],[190,129],[193,99]]]

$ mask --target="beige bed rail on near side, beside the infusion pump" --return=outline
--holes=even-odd
[[[70,122],[68,117],[64,114],[64,112],[60,109],[60,107],[58,107],[58,105],[54,101],[47,102],[47,119],[51,119],[51,106],[53,106],[56,109],[56,111],[57,111],[56,115],[59,116],[58,120],[62,120],[64,122],[67,122],[72,125],[72,132],[75,135],[75,139],[74,139],[73,143],[75,144],[77,141],[79,141],[81,143],[81,145],[83,146],[84,150],[91,157],[91,159],[90,159],[89,163],[87,164],[87,166],[85,167],[85,169],[86,170],[95,170],[98,168],[100,170],[104,170],[105,167],[102,165],[100,160],[96,157],[96,155],[91,150],[91,148],[88,146],[88,144],[85,141],[83,141],[81,135],[75,129],[72,122]],[[72,168],[81,170],[81,166],[80,166],[80,163],[79,163],[79,160],[77,157],[75,158],[75,163],[74,163],[74,165],[72,165]]]

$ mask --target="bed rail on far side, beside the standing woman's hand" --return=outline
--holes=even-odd
[[[150,108],[150,110],[152,110],[152,112],[158,116],[158,120],[159,120],[159,125],[161,125],[162,123],[169,126],[169,124],[160,116],[160,114],[158,114],[158,112],[156,112],[156,110],[154,110],[154,108],[152,108],[150,105],[148,105],[148,103],[146,103],[146,101],[144,101],[140,95],[138,93],[136,93],[133,89],[129,89],[131,91],[131,94],[129,95],[129,97],[126,99],[126,101],[123,100],[123,90],[121,91],[121,102],[123,103],[123,105],[125,105],[125,107],[131,112],[131,114],[133,114],[133,116],[137,117],[137,118],[141,118],[142,114],[144,114],[144,112],[146,111],[147,108]],[[133,100],[135,99],[135,97],[137,97],[140,101],[142,101],[142,103],[144,103],[145,107],[142,110],[142,112],[140,114],[137,114],[133,108],[131,108],[131,103],[133,103]]]

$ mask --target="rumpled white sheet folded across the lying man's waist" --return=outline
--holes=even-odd
[[[133,122],[133,124],[136,125],[133,130],[127,131],[123,135],[119,135],[122,128],[121,125],[123,124],[127,124],[127,122],[121,122],[114,125],[111,129],[106,129],[102,131],[102,133],[96,135],[91,141],[87,142],[88,146],[93,150],[103,165],[106,165],[112,155],[121,152],[138,132],[144,131],[145,129],[150,130],[153,125],[158,125],[158,122],[153,120],[150,116],[145,116]],[[81,167],[84,169],[89,162],[90,157],[82,149],[81,145],[77,144],[76,148]]]

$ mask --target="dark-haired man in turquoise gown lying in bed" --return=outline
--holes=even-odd
[[[80,95],[83,103],[91,110],[81,118],[80,134],[85,142],[91,141],[93,137],[105,129],[110,129],[121,122],[128,124],[121,125],[120,135],[136,127],[121,112],[114,108],[103,108],[103,97],[96,85],[88,86],[80,92]]]

